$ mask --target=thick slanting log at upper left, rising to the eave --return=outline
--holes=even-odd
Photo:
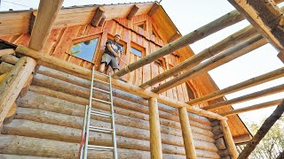
[[[53,22],[55,21],[63,0],[41,0],[36,14],[35,26],[30,37],[28,47],[41,51],[44,43],[51,34]]]

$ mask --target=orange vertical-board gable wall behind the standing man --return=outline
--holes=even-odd
[[[145,24],[145,29],[138,27],[141,23]],[[130,53],[131,47],[143,50],[144,57],[155,50],[162,48],[162,46],[167,43],[165,40],[162,40],[162,37],[155,31],[158,29],[154,19],[150,18],[147,14],[134,16],[131,20],[126,18],[106,20],[102,27],[80,25],[56,28],[51,31],[50,37],[43,46],[43,53],[86,68],[91,68],[93,65],[95,65],[96,68],[99,68],[100,59],[105,49],[107,38],[111,38],[114,34],[120,34],[121,44],[123,45],[122,60],[126,64],[131,64],[141,58]],[[88,62],[70,54],[73,44],[89,40],[92,37],[99,37],[98,46],[92,62]],[[30,34],[2,36],[0,39],[17,45],[28,46]],[[180,59],[175,53],[163,57],[162,60],[165,62],[163,67],[154,63],[147,64],[134,72],[126,74],[122,79],[127,80],[130,84],[139,86],[147,80],[154,78],[159,73],[164,72],[166,69],[170,69],[172,66],[180,63]],[[122,62],[120,62],[119,65],[121,68],[125,66]],[[161,82],[161,84],[163,82]],[[193,80],[189,82],[195,87]],[[158,87],[159,84],[160,83],[156,84],[152,88]],[[192,89],[196,92],[195,88]],[[173,87],[165,93],[162,93],[162,95],[176,99],[180,102],[187,102],[189,100],[185,84]],[[194,95],[200,95],[200,92],[196,92]]]

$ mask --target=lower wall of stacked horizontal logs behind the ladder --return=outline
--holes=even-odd
[[[28,93],[17,101],[13,120],[4,124],[0,135],[3,156],[76,158],[88,104],[90,80],[40,66]],[[106,87],[95,84],[106,90]],[[114,89],[114,111],[120,158],[150,158],[147,100]],[[95,92],[93,97],[106,100]],[[178,110],[158,103],[163,158],[185,158]],[[106,112],[105,104],[94,102],[94,110]],[[198,157],[219,158],[209,119],[188,113]],[[109,119],[93,117],[91,123],[107,127]],[[110,146],[106,133],[91,133],[91,144]],[[1,155],[0,155],[1,156]],[[110,158],[112,153],[91,152],[91,158]],[[96,157],[95,157],[96,156]]]

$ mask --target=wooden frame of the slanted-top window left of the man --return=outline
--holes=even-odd
[[[81,37],[78,37],[78,38],[73,39],[72,42],[70,43],[68,49],[67,49],[67,54],[68,54],[69,56],[71,56],[71,57],[76,57],[75,55],[72,55],[72,54],[71,54],[71,49],[72,49],[72,47],[73,47],[76,43],[85,42],[85,41],[89,41],[89,40],[92,40],[92,39],[99,38],[98,43],[97,43],[97,46],[96,46],[96,49],[95,49],[94,52],[93,52],[93,56],[92,56],[91,61],[86,60],[86,59],[83,59],[82,57],[76,57],[76,58],[82,59],[83,61],[90,62],[91,64],[95,64],[95,63],[94,63],[94,58],[95,58],[95,54],[96,54],[96,53],[98,52],[98,50],[99,50],[99,43],[100,43],[100,41],[101,41],[101,36],[102,36],[102,33],[99,33],[99,34],[90,34],[90,35],[86,35],[86,36],[81,36]]]

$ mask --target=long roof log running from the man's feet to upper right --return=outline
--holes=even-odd
[[[233,24],[241,21],[244,19],[238,11],[231,11],[224,16],[216,19],[209,24],[194,30],[190,34],[185,34],[178,38],[174,42],[170,42],[166,46],[162,47],[154,51],[153,53],[149,54],[146,57],[141,58],[140,60],[127,65],[125,68],[121,69],[119,72],[113,74],[114,78],[122,77],[123,75],[127,74],[128,72],[132,72],[143,65],[150,64],[154,62],[154,60],[159,59],[160,57],[164,57],[177,49],[181,49],[193,42],[197,42],[202,38],[208,36],[209,34],[213,34],[225,27],[232,26]]]

